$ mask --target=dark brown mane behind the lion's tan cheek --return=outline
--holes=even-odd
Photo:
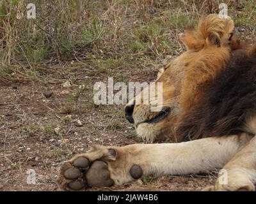
[[[256,46],[248,50],[232,52],[200,103],[182,115],[175,131],[179,141],[246,131],[246,119],[256,116]]]

